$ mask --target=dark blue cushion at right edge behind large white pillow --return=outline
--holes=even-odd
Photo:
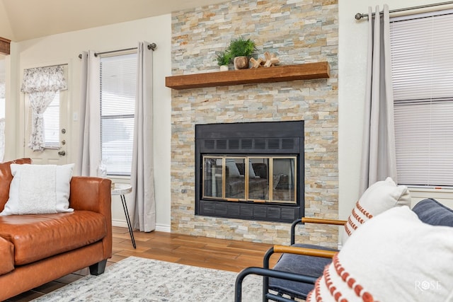
[[[453,210],[435,199],[423,199],[415,204],[412,211],[421,221],[432,226],[453,226]]]

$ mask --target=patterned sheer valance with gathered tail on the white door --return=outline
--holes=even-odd
[[[42,114],[55,98],[57,91],[67,89],[62,65],[25,69],[21,91],[28,93],[32,110],[32,129],[28,146],[33,151],[43,151],[45,145]]]

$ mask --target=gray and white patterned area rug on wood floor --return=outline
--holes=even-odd
[[[33,301],[234,301],[235,272],[127,257]],[[242,301],[261,300],[262,277],[243,281]]]

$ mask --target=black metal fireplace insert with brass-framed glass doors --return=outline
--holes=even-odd
[[[303,121],[195,125],[195,215],[291,223],[303,209]]]

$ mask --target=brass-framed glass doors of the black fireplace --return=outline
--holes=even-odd
[[[296,163],[296,156],[203,156],[203,199],[296,204]]]

